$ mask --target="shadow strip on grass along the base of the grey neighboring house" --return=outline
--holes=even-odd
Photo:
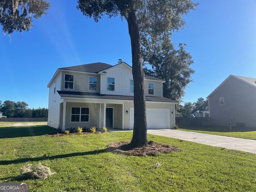
[[[249,127],[226,127],[226,126],[203,126],[203,127],[180,127],[181,129],[186,129],[190,131],[211,131],[211,132],[249,132],[256,131],[255,128]]]

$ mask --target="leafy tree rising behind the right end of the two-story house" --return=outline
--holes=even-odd
[[[164,97],[177,101],[185,94],[184,90],[192,81],[191,75],[194,73],[190,68],[194,61],[185,46],[179,44],[176,50],[171,39],[165,36],[147,44],[147,49],[142,49],[144,62],[152,66],[152,69],[145,68],[145,74],[164,79]]]

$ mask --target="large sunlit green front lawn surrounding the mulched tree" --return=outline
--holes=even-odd
[[[36,127],[41,133],[46,129],[54,131]],[[256,191],[256,155],[250,153],[149,134],[149,140],[178,146],[182,152],[135,157],[105,150],[110,143],[129,141],[132,132],[55,138],[34,134],[10,138],[8,133],[0,139],[0,182],[26,182],[17,179],[20,168],[42,162],[56,174],[29,180],[30,191]],[[156,163],[162,167],[152,169]]]

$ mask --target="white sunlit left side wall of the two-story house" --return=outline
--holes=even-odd
[[[47,125],[59,128],[60,127],[60,103],[63,99],[57,91],[61,90],[61,73],[59,73],[54,79],[49,87],[49,106],[48,106],[48,122]],[[54,87],[56,86],[56,91],[54,93]]]

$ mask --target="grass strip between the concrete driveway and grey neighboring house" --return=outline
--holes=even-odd
[[[233,127],[230,130],[229,127],[209,126],[209,127],[180,127],[179,130],[256,140],[256,129],[252,129],[252,128]]]

